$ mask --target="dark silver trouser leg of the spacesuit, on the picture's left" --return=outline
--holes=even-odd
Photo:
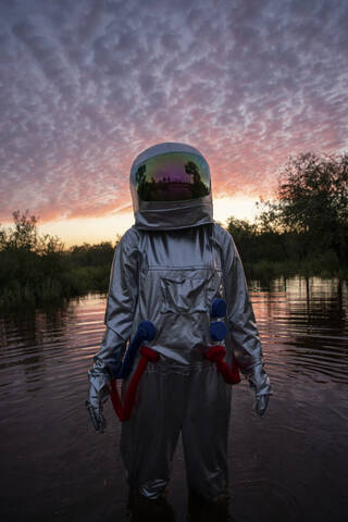
[[[179,373],[145,373],[132,417],[122,425],[129,486],[147,498],[158,498],[170,481],[189,380]]]

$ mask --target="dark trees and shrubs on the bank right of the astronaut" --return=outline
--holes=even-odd
[[[254,223],[227,229],[248,278],[348,277],[348,154],[293,157],[278,173],[274,200],[260,200]]]

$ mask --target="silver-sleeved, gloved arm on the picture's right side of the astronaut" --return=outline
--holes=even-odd
[[[271,395],[271,383],[264,370],[259,332],[243,264],[233,238],[228,233],[226,234],[223,248],[223,272],[227,326],[231,332],[235,359],[256,393],[256,411],[262,417]]]

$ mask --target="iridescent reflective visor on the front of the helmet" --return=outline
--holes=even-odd
[[[139,164],[136,189],[141,201],[186,201],[210,194],[206,160],[189,152],[167,152]]]

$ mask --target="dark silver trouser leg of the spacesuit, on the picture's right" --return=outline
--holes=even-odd
[[[227,488],[227,438],[231,386],[215,364],[204,365],[190,377],[183,423],[188,487],[210,499]]]

